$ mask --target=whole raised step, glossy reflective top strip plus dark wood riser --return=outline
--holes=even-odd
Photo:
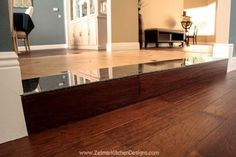
[[[199,56],[24,80],[21,98],[28,133],[224,78],[226,70],[227,59]]]

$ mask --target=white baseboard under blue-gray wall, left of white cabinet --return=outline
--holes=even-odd
[[[56,44],[56,45],[32,45],[31,50],[51,50],[51,49],[63,49],[68,48],[67,44]],[[19,51],[25,51],[24,46],[19,47]]]

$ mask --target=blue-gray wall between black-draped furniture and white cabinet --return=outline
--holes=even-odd
[[[29,35],[30,44],[65,44],[66,37],[63,0],[34,0],[33,6],[33,22],[35,28]],[[59,8],[59,11],[54,12],[53,8]],[[14,12],[24,11],[25,9],[14,8]],[[58,18],[58,14],[62,17]]]

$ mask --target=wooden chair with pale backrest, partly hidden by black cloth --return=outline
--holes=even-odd
[[[32,18],[33,7],[30,6],[28,9],[26,9],[25,14],[28,14]],[[25,32],[22,32],[22,31],[16,31],[16,37],[17,37],[17,39],[21,39],[24,41],[25,50],[26,50],[26,52],[30,53],[30,44],[29,44],[28,34],[26,34]]]

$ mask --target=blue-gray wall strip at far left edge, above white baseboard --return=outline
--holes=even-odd
[[[8,1],[0,0],[0,52],[12,51]]]

